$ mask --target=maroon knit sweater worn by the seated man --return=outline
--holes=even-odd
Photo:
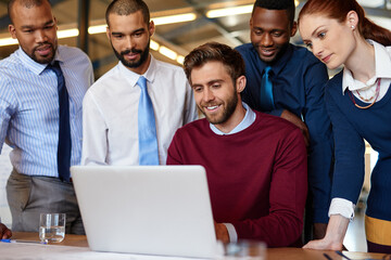
[[[217,135],[206,119],[177,130],[167,165],[206,169],[213,216],[232,223],[239,239],[290,246],[301,236],[307,192],[306,148],[301,131],[256,113],[249,128]]]

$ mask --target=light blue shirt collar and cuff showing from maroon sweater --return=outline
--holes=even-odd
[[[229,133],[222,132],[213,123],[210,125],[211,130],[214,133],[218,134],[218,135],[225,135],[225,134],[238,133],[238,132],[247,129],[248,127],[250,127],[255,121],[256,114],[244,102],[242,102],[242,105],[243,105],[243,107],[245,109],[244,118]],[[224,224],[227,227],[228,235],[229,235],[229,240],[230,242],[237,242],[238,240],[238,233],[236,232],[235,226],[231,223],[224,223]]]

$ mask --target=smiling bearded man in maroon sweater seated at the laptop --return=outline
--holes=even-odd
[[[231,48],[211,42],[194,49],[185,72],[205,118],[177,130],[167,165],[206,169],[217,239],[295,244],[307,192],[303,134],[241,102],[244,63]]]

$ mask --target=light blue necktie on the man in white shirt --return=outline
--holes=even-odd
[[[156,125],[147,79],[140,76],[137,84],[141,89],[138,107],[139,164],[159,165]]]

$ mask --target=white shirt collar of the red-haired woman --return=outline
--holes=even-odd
[[[363,83],[353,78],[351,70],[344,68],[342,77],[342,94],[344,94],[346,89],[354,91],[365,89],[368,86],[373,86],[378,78],[391,79],[391,70],[387,69],[391,67],[391,58],[386,47],[374,40],[368,39],[367,41],[375,48],[375,76],[370,78],[366,83]]]

